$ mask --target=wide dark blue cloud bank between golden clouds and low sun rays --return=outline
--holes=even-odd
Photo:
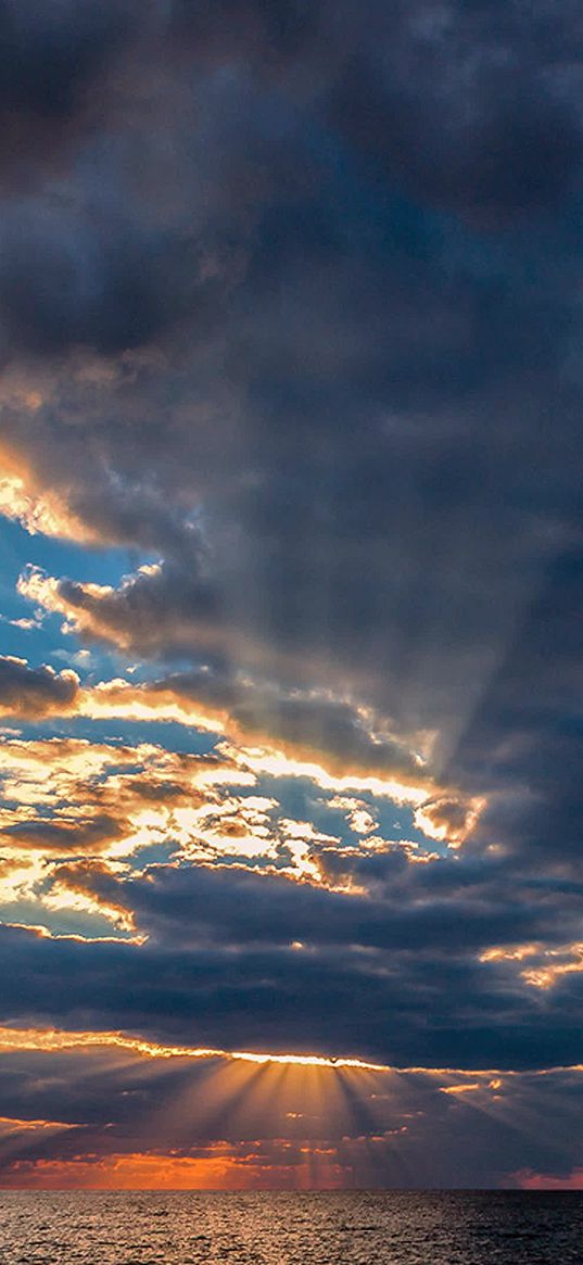
[[[68,863],[62,883],[130,911],[149,940],[73,944],[6,929],[1,1018],[400,1065],[575,1063],[580,974],[541,990],[503,960],[479,960],[491,946],[511,953],[537,937],[553,947],[556,910],[526,892],[502,902],[500,887],[478,896],[476,882],[457,892],[455,870],[451,891],[433,898],[429,884],[388,870],[384,898],[367,899],[234,867],[154,867],[145,879],[120,879],[101,863]],[[577,929],[577,906],[568,908],[563,940]]]

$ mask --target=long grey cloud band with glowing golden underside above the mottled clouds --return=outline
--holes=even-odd
[[[150,573],[144,574],[148,577]],[[27,591],[27,583],[28,581],[23,583],[23,591]],[[30,584],[37,600],[44,597],[51,610],[52,591],[43,588],[40,592],[38,583],[44,584],[44,581],[32,576]],[[101,592],[105,593],[105,600],[107,589]],[[134,615],[139,621],[143,615],[139,606]],[[371,787],[378,788],[386,783],[387,793],[395,788],[396,796],[401,786],[405,798],[410,788],[414,802],[426,798],[433,791],[426,760],[411,748],[414,740],[421,745],[425,735],[412,735],[407,743],[405,737],[392,734],[388,721],[372,708],[359,707],[350,698],[335,697],[329,691],[286,691],[272,681],[236,677],[220,665],[206,664],[199,670],[173,673],[143,683],[115,678],[80,687],[78,677],[70,669],[63,669],[57,677],[49,667],[32,669],[24,659],[0,657],[0,683],[3,674],[6,682],[15,676],[14,688],[9,689],[6,684],[5,701],[0,693],[0,711],[4,710],[6,716],[24,715],[30,720],[39,720],[47,713],[43,694],[38,697],[38,691],[34,693],[33,689],[38,678],[48,686],[54,683],[52,710],[56,715],[75,713],[92,720],[119,717],[145,722],[172,721],[229,737],[247,751],[252,764],[259,765],[263,759],[267,768],[269,760],[274,767],[279,760],[282,773],[287,772],[290,775],[301,775],[305,767],[305,773],[311,773],[317,779],[316,762],[321,762],[322,778],[328,773],[333,781],[336,778],[347,782],[353,778],[354,784],[359,781],[367,784],[368,781]],[[71,684],[71,697],[63,693],[66,684]],[[238,756],[240,762],[244,758]],[[340,802],[339,807],[343,807]],[[435,837],[440,839],[448,837],[448,822],[453,839],[458,839],[462,827],[468,832],[474,824],[470,806],[463,799],[440,799],[431,808],[427,807],[426,813],[425,825],[430,822],[431,813],[435,816],[435,827],[431,817],[431,831],[427,829],[426,832],[433,834],[439,825],[440,832]]]

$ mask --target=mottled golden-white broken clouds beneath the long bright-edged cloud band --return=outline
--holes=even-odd
[[[52,691],[53,677],[47,681]],[[223,741],[210,755],[192,755],[152,743],[132,746],[6,734],[0,768],[5,799],[0,846],[11,859],[0,872],[0,899],[100,915],[124,931],[134,930],[132,910],[113,883],[104,896],[105,884],[97,878],[121,878],[124,864],[152,845],[172,849],[188,864],[255,863],[266,873],[353,894],[365,891],[353,874],[357,850],[398,850],[411,861],[436,859],[415,842],[363,832],[374,820],[362,801],[347,796],[357,788],[416,803],[425,788],[379,777],[335,777],[321,765],[269,749]],[[259,779],[277,777],[309,778],[317,791],[334,792],[333,807],[358,827],[358,844],[347,849],[340,835],[285,816],[273,796],[249,793]],[[59,864],[64,860],[70,864]],[[9,920],[20,921],[14,910]],[[33,921],[44,921],[40,910]]]

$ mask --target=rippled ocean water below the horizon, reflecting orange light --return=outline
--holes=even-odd
[[[583,1194],[0,1194],[3,1265],[582,1265]]]

